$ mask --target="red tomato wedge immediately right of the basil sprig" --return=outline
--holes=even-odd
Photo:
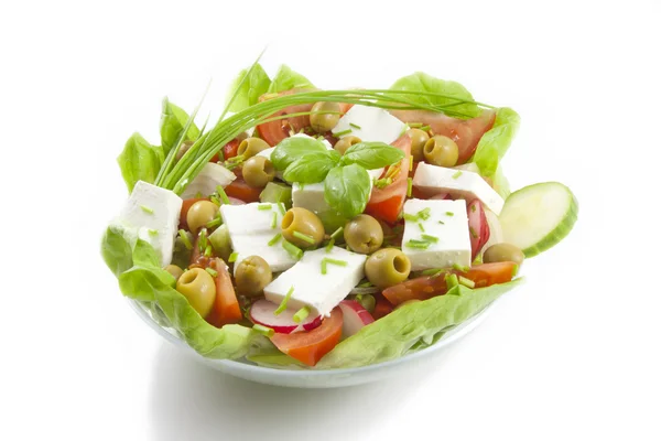
[[[383,189],[372,189],[371,196],[365,208],[365,213],[386,220],[389,224],[397,222],[407,198],[411,137],[402,135],[392,143],[392,147],[397,147],[404,152],[404,159],[400,162],[400,171],[392,184]]]

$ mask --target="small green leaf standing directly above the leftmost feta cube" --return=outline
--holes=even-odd
[[[124,149],[117,158],[121,175],[127,183],[129,192],[138,181],[149,182],[156,180],[161,164],[163,164],[163,149],[152,146],[140,133],[133,133],[124,144]]]

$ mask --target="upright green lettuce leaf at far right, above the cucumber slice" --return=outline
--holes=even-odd
[[[479,166],[483,176],[496,176],[498,164],[512,143],[520,121],[519,114],[509,107],[498,109],[494,127],[483,135],[473,157],[473,162]]]

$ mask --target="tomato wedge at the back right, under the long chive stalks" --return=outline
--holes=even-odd
[[[452,138],[459,148],[457,164],[470,159],[480,138],[496,120],[495,110],[483,110],[480,116],[470,119],[452,118],[426,110],[391,110],[391,114],[403,122],[421,122],[430,126],[434,135]]]

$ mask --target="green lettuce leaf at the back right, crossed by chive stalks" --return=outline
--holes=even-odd
[[[435,78],[423,72],[416,72],[414,74],[401,77],[394,82],[392,86],[390,86],[390,89],[445,95],[443,97],[413,94],[402,96],[402,98],[425,105],[433,104],[448,106],[457,103],[457,100],[454,98],[473,100],[473,95],[470,95],[470,93],[459,83]],[[477,107],[477,105],[472,103],[459,104],[453,106],[452,109],[465,115],[467,118],[476,117],[480,112],[480,109]]]

